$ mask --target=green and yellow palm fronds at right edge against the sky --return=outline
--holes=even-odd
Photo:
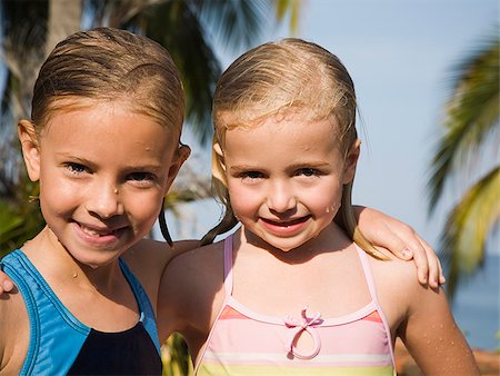
[[[494,32],[453,71],[453,90],[443,121],[444,133],[431,164],[430,212],[442,199],[449,180],[471,166],[471,161],[478,161],[482,150],[488,147],[499,150],[499,34]],[[440,238],[440,249],[449,264],[450,296],[463,277],[482,266],[488,240],[493,230],[498,230],[498,155],[482,159],[489,170],[482,175],[474,171],[479,177],[450,211]]]

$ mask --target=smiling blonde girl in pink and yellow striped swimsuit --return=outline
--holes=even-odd
[[[300,39],[220,78],[212,172],[227,211],[204,241],[241,226],[176,257],[159,301],[160,335],[184,336],[198,375],[394,375],[397,337],[424,374],[478,374],[443,290],[358,229],[356,110],[340,60]]]

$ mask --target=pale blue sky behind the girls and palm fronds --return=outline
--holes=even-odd
[[[491,34],[498,16],[494,0],[306,0],[301,9],[297,37],[336,53],[357,87],[362,156],[354,202],[400,218],[434,248],[453,197],[467,187],[467,179],[458,179],[428,216],[429,161],[450,69]],[[256,44],[287,36],[288,28],[278,27]],[[226,63],[241,52],[226,52]],[[193,151],[191,166],[209,169],[208,151]],[[174,236],[200,236],[219,214],[211,205],[186,208],[184,220],[171,226]]]

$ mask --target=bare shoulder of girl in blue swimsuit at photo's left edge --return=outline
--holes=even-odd
[[[0,297],[0,374],[18,375],[28,353],[29,318],[17,287]]]

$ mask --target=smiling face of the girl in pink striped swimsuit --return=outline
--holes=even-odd
[[[357,141],[344,157],[336,127],[331,118],[294,115],[227,130],[222,160],[232,209],[272,247],[300,247],[332,222],[359,155]]]

